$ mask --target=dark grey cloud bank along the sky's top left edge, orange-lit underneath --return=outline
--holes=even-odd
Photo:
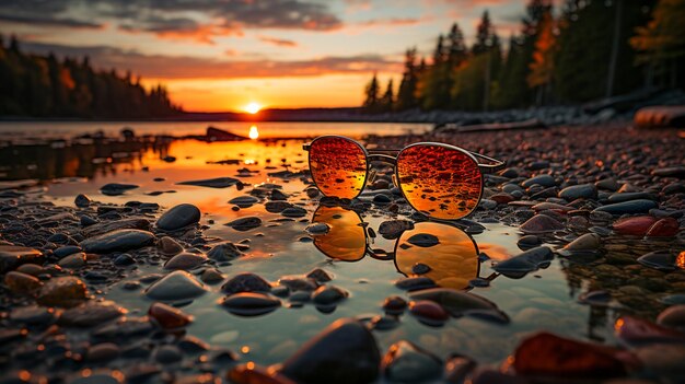
[[[5,21],[95,27],[111,22],[131,33],[211,43],[246,28],[332,31],[342,22],[312,0],[2,0]]]

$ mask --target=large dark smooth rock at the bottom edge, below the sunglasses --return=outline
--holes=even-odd
[[[299,383],[362,384],[376,380],[381,354],[373,335],[356,319],[339,319],[309,340],[282,365]]]

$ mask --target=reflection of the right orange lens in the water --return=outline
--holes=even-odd
[[[428,270],[421,276],[431,278],[440,287],[464,289],[469,280],[478,277],[480,263],[474,241],[464,231],[422,222],[405,231],[397,241],[395,266],[406,276],[415,275],[415,268]]]

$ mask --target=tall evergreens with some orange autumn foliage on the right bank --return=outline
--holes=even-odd
[[[577,104],[640,89],[684,89],[685,0],[531,0],[502,48],[489,13],[471,47],[457,23],[432,56],[405,54],[402,81],[364,90],[369,113],[489,110]]]

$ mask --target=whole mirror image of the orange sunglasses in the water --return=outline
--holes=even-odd
[[[388,254],[371,248],[365,223],[352,210],[320,206],[312,222],[328,224],[326,234],[313,237],[314,246],[330,258],[358,261],[369,255],[393,259],[397,271],[405,276],[425,276],[441,287],[454,289],[468,288],[469,281],[480,274],[478,245],[471,235],[451,224],[415,223],[399,234],[393,253]]]

